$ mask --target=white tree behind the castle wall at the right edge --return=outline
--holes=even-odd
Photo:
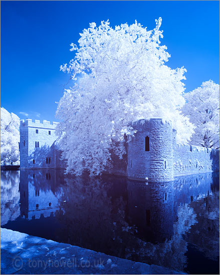
[[[212,80],[202,82],[184,97],[182,112],[196,126],[190,144],[219,148],[219,84]]]

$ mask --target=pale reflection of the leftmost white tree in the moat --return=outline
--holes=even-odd
[[[1,171],[1,225],[20,215],[19,171]]]

